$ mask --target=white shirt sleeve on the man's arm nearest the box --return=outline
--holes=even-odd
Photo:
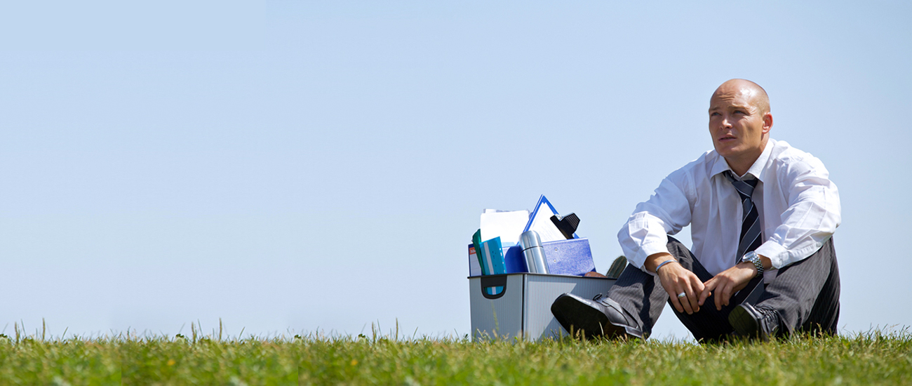
[[[659,183],[655,193],[644,203],[638,203],[627,223],[617,233],[627,261],[652,275],[643,266],[646,258],[668,252],[668,234],[675,235],[690,224],[688,176],[673,172]]]

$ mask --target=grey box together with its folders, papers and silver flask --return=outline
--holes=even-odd
[[[596,266],[589,240],[575,233],[579,224],[576,214],[558,213],[544,195],[531,213],[482,213],[469,245],[472,339],[568,334],[551,314],[554,299],[568,292],[594,297],[615,282],[586,276]]]

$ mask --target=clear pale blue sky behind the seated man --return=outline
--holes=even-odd
[[[907,2],[0,5],[0,328],[470,332],[484,208],[596,268],[749,78],[840,190],[840,328],[912,325]],[[685,231],[682,239],[689,244]],[[667,313],[658,336],[686,337]]]

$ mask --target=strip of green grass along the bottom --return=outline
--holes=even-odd
[[[37,335],[37,334],[36,334]],[[0,384],[912,384],[912,334],[765,343],[0,337]]]

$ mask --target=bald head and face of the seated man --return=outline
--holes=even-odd
[[[716,151],[731,162],[753,163],[763,152],[772,115],[755,103],[751,89],[723,85],[710,99],[710,135]]]

